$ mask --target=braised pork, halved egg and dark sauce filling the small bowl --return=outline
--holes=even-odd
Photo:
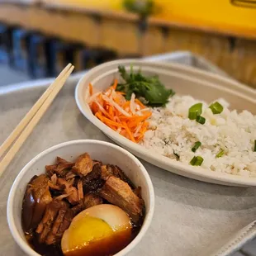
[[[145,202],[120,168],[82,154],[75,163],[57,157],[31,179],[21,216],[40,255],[109,256],[138,235]]]

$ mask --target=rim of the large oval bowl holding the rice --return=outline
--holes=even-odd
[[[204,72],[201,70],[193,69],[191,67],[183,66],[182,64],[173,64],[173,63],[166,64],[166,63],[161,63],[161,62],[152,62],[152,61],[143,60],[143,59],[117,59],[117,60],[106,62],[104,64],[100,64],[97,67],[90,69],[88,71],[88,73],[85,73],[83,75],[83,77],[80,78],[80,80],[78,81],[78,84],[75,88],[75,100],[76,100],[78,109],[81,111],[83,116],[85,116],[89,121],[91,121],[94,126],[97,126],[98,129],[102,130],[102,132],[104,134],[106,134],[107,136],[109,136],[111,138],[111,140],[121,143],[121,145],[125,145],[126,148],[129,148],[133,152],[139,153],[140,158],[145,159],[145,161],[147,161],[150,164],[154,164],[152,161],[152,160],[154,160],[154,162],[158,163],[158,164],[154,164],[155,166],[164,168],[165,170],[167,170],[169,172],[176,173],[178,175],[182,175],[182,176],[185,176],[188,178],[190,178],[190,175],[197,176],[197,177],[200,177],[203,179],[206,178],[208,180],[207,183],[216,183],[217,182],[219,184],[225,183],[225,185],[229,184],[231,186],[241,186],[241,185],[242,186],[256,186],[256,178],[237,176],[237,175],[233,175],[233,174],[229,174],[229,173],[216,173],[216,172],[211,172],[209,170],[205,170],[200,167],[192,168],[192,166],[190,166],[189,164],[174,162],[173,160],[168,159],[167,157],[164,157],[161,154],[154,154],[154,152],[150,151],[149,149],[145,149],[143,146],[137,145],[134,142],[126,139],[126,137],[123,137],[122,135],[116,133],[115,130],[112,130],[110,127],[103,124],[102,121],[99,121],[97,119],[97,117],[92,114],[92,111],[88,112],[87,110],[85,110],[83,108],[83,106],[88,107],[88,103],[80,102],[79,97],[80,97],[80,92],[81,92],[82,88],[84,87],[84,81],[86,81],[88,79],[88,76],[91,76],[93,73],[97,73],[99,70],[103,69],[104,67],[111,67],[111,66],[115,66],[116,64],[127,65],[130,63],[133,63],[135,65],[138,65],[138,64],[149,64],[149,65],[155,65],[155,66],[163,65],[164,67],[167,67],[167,68],[168,67],[176,67],[176,68],[178,67],[180,69],[190,70],[193,73],[204,73],[206,76],[210,76],[210,74],[211,74],[211,77],[215,77],[220,81],[225,80],[225,81],[228,81],[229,83],[233,83],[233,85],[235,85],[236,87],[239,87],[239,88],[242,88],[245,90],[248,89],[248,88],[246,88],[246,86],[244,84],[238,83],[235,80],[232,80],[230,78],[224,78],[218,74],[212,74],[209,72]],[[204,79],[206,79],[206,78],[204,78]],[[239,91],[235,90],[234,88],[233,89],[228,88],[228,90],[234,91],[235,93],[242,95],[244,98],[248,99],[249,101],[254,101],[253,98],[249,97],[248,95],[244,94],[243,92],[239,92]],[[148,159],[151,159],[151,162]],[[161,164],[161,166],[159,164]],[[167,164],[168,164],[168,168],[177,169],[178,172],[173,172],[173,171],[170,171],[167,168],[165,168],[167,166]],[[198,172],[198,170],[200,170],[200,172]],[[180,171],[182,173],[180,173]],[[183,175],[183,173],[185,173],[186,175]],[[195,178],[193,178],[193,179],[195,179]]]

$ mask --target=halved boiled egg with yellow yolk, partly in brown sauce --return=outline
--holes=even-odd
[[[61,248],[66,256],[107,256],[131,241],[131,223],[117,206],[92,206],[75,216],[64,232]]]

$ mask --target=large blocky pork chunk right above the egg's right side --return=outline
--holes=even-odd
[[[144,213],[144,201],[136,196],[130,186],[120,178],[114,176],[107,178],[99,195],[126,211],[135,224],[140,222]]]

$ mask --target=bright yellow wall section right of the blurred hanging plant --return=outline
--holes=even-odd
[[[162,7],[159,17],[192,25],[239,31],[256,31],[256,9],[237,7],[230,0],[156,0]],[[255,4],[256,7],[256,4]]]

